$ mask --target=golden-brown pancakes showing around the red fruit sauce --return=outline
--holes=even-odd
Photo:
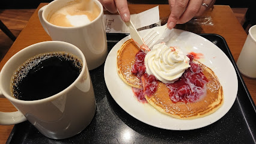
[[[139,49],[132,39],[126,41],[117,53],[117,71],[127,85],[142,88],[141,80],[131,72],[132,65],[135,64],[135,55],[138,52]],[[196,60],[193,61],[200,65],[204,76],[209,80],[206,83],[205,95],[201,95],[200,99],[194,102],[174,103],[169,97],[168,87],[157,80],[157,91],[153,95],[145,95],[148,103],[160,112],[178,119],[201,118],[219,109],[224,103],[224,96],[218,77],[206,65]]]

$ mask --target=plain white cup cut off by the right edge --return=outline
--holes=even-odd
[[[256,25],[249,29],[249,34],[237,59],[237,67],[243,75],[256,78]]]

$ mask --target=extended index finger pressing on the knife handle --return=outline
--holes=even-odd
[[[128,9],[126,0],[115,0],[115,5],[117,5],[117,10],[120,13],[121,18],[124,22],[130,20],[130,11]]]

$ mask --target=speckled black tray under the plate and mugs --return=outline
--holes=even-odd
[[[163,130],[144,124],[126,113],[109,94],[104,80],[104,64],[91,70],[97,111],[84,131],[69,139],[43,136],[28,121],[14,125],[7,143],[256,143],[256,110],[226,41],[220,35],[200,34],[216,44],[236,69],[239,88],[230,111],[207,127],[188,131]],[[108,34],[108,50],[125,34]],[[120,89],[121,91],[121,89]],[[170,121],[171,122],[171,121]]]

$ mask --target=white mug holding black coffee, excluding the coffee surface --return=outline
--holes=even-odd
[[[25,101],[14,98],[11,92],[14,71],[35,55],[52,52],[71,53],[81,59],[83,67],[76,80],[58,94],[41,100]],[[0,112],[1,125],[28,120],[44,136],[51,139],[75,136],[90,124],[96,112],[96,100],[85,56],[78,47],[63,41],[33,44],[12,56],[0,73],[0,97],[7,98],[17,109],[16,112]]]

